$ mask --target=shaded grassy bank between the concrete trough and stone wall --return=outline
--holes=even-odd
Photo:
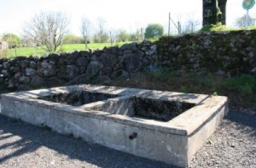
[[[128,80],[113,80],[112,86],[223,95],[233,107],[256,107],[256,77],[242,75],[226,78],[213,75],[175,72],[146,72]]]

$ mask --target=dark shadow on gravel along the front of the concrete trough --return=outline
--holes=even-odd
[[[8,140],[14,136],[20,138],[15,138],[15,142]],[[0,164],[26,153],[32,153],[31,156],[34,156],[33,152],[42,146],[64,154],[72,160],[92,163],[99,167],[170,167],[165,163],[115,151],[102,145],[88,144],[81,139],[59,135],[43,127],[14,121],[0,115],[0,151],[6,148],[12,150],[10,154],[0,154],[3,156],[0,157]]]

